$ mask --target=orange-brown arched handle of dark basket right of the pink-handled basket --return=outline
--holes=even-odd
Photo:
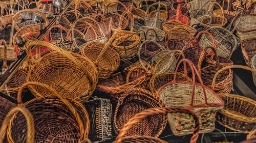
[[[217,65],[220,65],[219,56],[217,55],[216,49],[214,47],[207,46],[202,50],[202,52],[199,56],[199,60],[198,60],[197,71],[200,75],[201,75],[201,66],[203,64],[203,61],[204,61],[204,58],[205,58],[205,55],[206,55],[205,53],[206,53],[207,49],[211,49],[214,52],[214,54],[212,54],[212,59],[213,59],[213,56],[215,55]]]

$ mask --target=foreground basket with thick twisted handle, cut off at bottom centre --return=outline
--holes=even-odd
[[[189,117],[192,117],[195,121],[195,128],[193,131],[193,136],[190,138],[190,143],[196,143],[198,138],[198,132],[199,132],[199,120],[195,113],[186,110],[186,109],[180,109],[180,108],[171,108],[171,107],[160,107],[160,108],[150,108],[143,110],[140,113],[137,113],[133,118],[131,118],[127,123],[125,123],[120,130],[118,136],[116,137],[116,140],[114,143],[121,143],[121,142],[136,142],[136,143],[167,143],[164,140],[161,140],[160,138],[152,137],[152,136],[145,136],[145,135],[133,135],[133,136],[125,136],[127,132],[129,132],[135,125],[145,120],[145,118],[148,118],[148,116],[153,115],[159,115],[160,113],[179,113],[181,115],[188,114]],[[125,136],[125,137],[124,137]]]

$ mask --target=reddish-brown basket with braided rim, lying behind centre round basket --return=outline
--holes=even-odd
[[[99,80],[96,90],[107,95],[112,104],[116,104],[127,89],[135,87],[145,89],[150,77],[151,75],[143,68],[134,67],[129,72],[118,72],[105,80]]]

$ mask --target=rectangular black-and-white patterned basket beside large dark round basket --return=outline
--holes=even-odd
[[[89,138],[92,141],[106,141],[112,139],[112,105],[109,99],[94,97],[84,102],[88,109],[90,120]]]

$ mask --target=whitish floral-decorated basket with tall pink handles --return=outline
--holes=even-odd
[[[193,82],[177,81],[177,71],[181,63],[187,63],[193,74]],[[185,70],[186,72],[186,67]],[[200,80],[196,82],[195,72]],[[187,75],[187,74],[186,74]],[[211,89],[203,84],[195,65],[183,59],[179,62],[174,80],[163,85],[158,92],[158,98],[166,107],[185,108],[197,114],[200,122],[200,132],[210,132],[215,129],[215,116],[224,106],[223,100]],[[168,115],[170,128],[175,135],[191,134],[194,130],[194,120],[186,115],[173,113]]]

